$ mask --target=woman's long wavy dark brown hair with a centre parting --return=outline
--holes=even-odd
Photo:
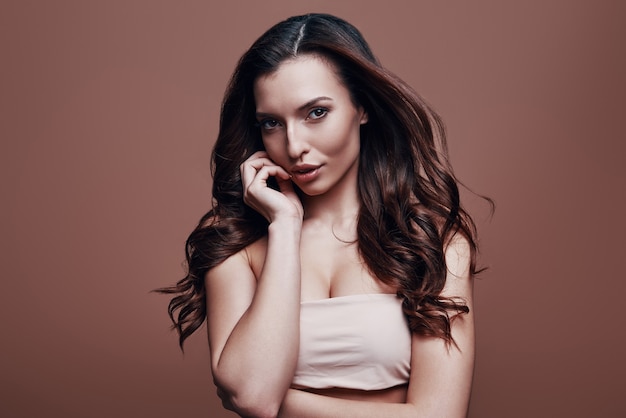
[[[467,239],[475,274],[476,231],[461,207],[439,116],[405,82],[383,68],[359,31],[327,14],[294,16],[263,34],[241,57],[228,85],[212,154],[213,208],[186,243],[187,275],[158,289],[175,295],[168,312],[185,339],[206,319],[207,271],[267,234],[267,221],[243,202],[239,166],[263,149],[255,126],[253,85],[286,59],[315,54],[332,62],[362,106],[357,239],[371,273],[393,286],[413,332],[452,342],[450,322],[469,312],[440,295],[445,246]]]

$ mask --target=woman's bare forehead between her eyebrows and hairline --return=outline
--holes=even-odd
[[[284,61],[274,72],[259,77],[254,83],[258,111],[298,107],[320,96],[343,100],[349,98],[349,92],[339,79],[335,65],[315,55]]]

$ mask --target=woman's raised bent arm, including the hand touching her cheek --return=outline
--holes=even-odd
[[[282,185],[282,193],[267,187],[267,178],[282,169],[264,154],[245,164],[246,203],[270,221],[265,260],[255,275],[244,250],[208,272],[211,367],[225,404],[242,416],[273,417],[298,355],[302,210],[289,185]]]

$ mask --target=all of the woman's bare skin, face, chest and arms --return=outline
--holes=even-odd
[[[211,365],[224,406],[259,417],[465,416],[474,325],[469,247],[460,237],[446,250],[443,292],[470,307],[469,315],[452,322],[457,347],[413,336],[407,386],[374,392],[289,388],[301,301],[394,290],[369,274],[354,243],[359,128],[367,114],[333,65],[316,56],[285,61],[256,81],[254,95],[266,151],[244,162],[241,174],[244,200],[270,222],[268,235],[206,278]],[[267,187],[269,177],[279,191]]]

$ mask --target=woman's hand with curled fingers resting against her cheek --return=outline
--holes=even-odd
[[[265,151],[252,154],[240,167],[244,202],[259,212],[270,223],[280,217],[302,219],[304,209],[293,189],[291,176],[276,165]],[[268,186],[267,180],[274,177],[280,191]]]

